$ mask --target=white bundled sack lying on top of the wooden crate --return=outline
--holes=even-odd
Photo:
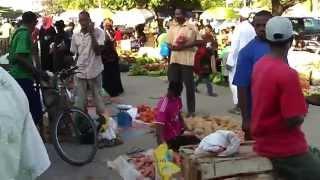
[[[240,138],[232,131],[218,130],[202,139],[195,154],[217,153],[217,156],[231,156],[239,152]]]

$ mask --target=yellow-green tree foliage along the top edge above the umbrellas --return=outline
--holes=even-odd
[[[256,6],[268,7],[276,15],[282,14],[286,9],[306,0],[259,0]],[[242,6],[243,0],[233,0],[231,7]],[[224,7],[226,0],[44,0],[48,13],[59,13],[66,9],[89,9],[101,5],[112,10],[131,9],[134,7],[149,7],[152,9],[171,9],[183,7],[186,9],[209,9]]]

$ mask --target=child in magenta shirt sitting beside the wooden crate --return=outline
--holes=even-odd
[[[157,105],[156,127],[158,144],[167,143],[168,147],[178,151],[180,146],[198,144],[200,140],[192,135],[184,134],[186,126],[181,115],[180,82],[170,82],[168,93],[162,97]]]

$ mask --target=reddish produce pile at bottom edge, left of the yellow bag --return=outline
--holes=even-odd
[[[135,169],[140,172],[144,178],[155,178],[155,166],[153,158],[149,155],[138,154],[130,157]]]

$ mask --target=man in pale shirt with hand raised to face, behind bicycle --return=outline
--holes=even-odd
[[[76,98],[75,106],[84,109],[88,97],[88,87],[92,91],[97,113],[105,113],[105,105],[100,94],[102,88],[103,64],[101,46],[105,41],[105,33],[94,28],[90,14],[82,11],[79,14],[81,30],[73,34],[70,51],[76,54],[78,71],[75,75]]]

